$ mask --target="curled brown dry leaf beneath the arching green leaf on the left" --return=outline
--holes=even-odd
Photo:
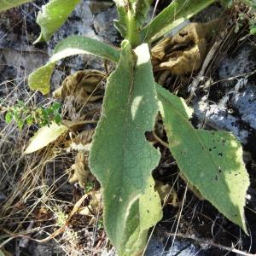
[[[55,98],[74,96],[79,105],[83,105],[86,101],[94,102],[102,98],[102,95],[92,96],[92,93],[99,88],[105,78],[104,73],[94,69],[80,70],[68,76],[61,87],[54,91],[53,96]]]

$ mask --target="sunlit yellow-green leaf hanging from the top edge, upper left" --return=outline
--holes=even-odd
[[[39,41],[49,41],[79,2],[80,0],[50,0],[45,4],[38,13],[37,23],[41,27],[41,33],[34,44]]]

